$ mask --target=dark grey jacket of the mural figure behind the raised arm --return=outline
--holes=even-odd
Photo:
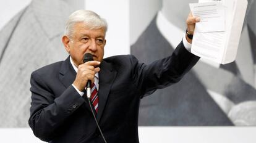
[[[150,63],[173,53],[173,47],[156,27],[156,17],[130,52],[140,62]],[[203,70],[203,69],[202,69]],[[182,80],[145,97],[140,106],[140,126],[233,125],[191,70]]]

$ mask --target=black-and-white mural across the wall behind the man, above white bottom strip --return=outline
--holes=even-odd
[[[19,4],[12,2],[14,7]],[[121,36],[111,34],[111,31],[120,33],[120,28],[109,24],[107,36],[111,39],[107,38],[106,47],[111,46],[105,47],[106,55],[130,51],[145,63],[170,55],[185,34],[190,2],[197,0],[130,0],[123,6],[127,8],[123,9],[125,12],[112,12],[106,2],[103,10],[122,28]],[[87,5],[83,0],[27,0],[27,3],[0,25],[0,128],[28,127],[30,74],[66,59],[61,43],[65,22],[71,12]],[[4,2],[1,4],[4,6]],[[98,12],[97,7],[92,10]],[[1,20],[4,16],[1,15]],[[255,27],[256,1],[249,0],[236,61],[218,65],[200,60],[179,83],[141,100],[139,125],[255,126]],[[116,49],[109,52],[111,47]]]

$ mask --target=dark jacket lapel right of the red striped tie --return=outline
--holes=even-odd
[[[116,71],[113,70],[111,64],[105,62],[104,60],[101,62],[99,72],[99,107],[97,120],[100,121],[101,116],[103,115],[103,111],[108,100],[109,90],[113,84],[114,78],[116,76]]]

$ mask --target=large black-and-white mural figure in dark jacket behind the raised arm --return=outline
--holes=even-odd
[[[190,2],[198,1],[163,0],[160,12],[131,46],[131,54],[137,56],[139,61],[150,63],[172,53],[174,45],[179,42],[179,35],[186,29],[182,24],[186,12],[180,11],[186,11]],[[249,1],[249,6],[252,2]],[[139,125],[241,125],[230,116],[231,111],[234,111],[232,108],[234,105],[256,99],[252,62],[252,57],[255,56],[250,55],[248,39],[244,38],[246,35],[247,27],[241,36],[236,64],[220,65],[201,60],[179,83],[156,91],[156,96],[145,97],[140,107]],[[161,43],[161,48],[155,46],[155,43]],[[232,71],[236,69],[236,65],[240,71]],[[241,76],[236,75],[239,72]],[[232,84],[228,82],[231,80]],[[237,91],[240,91],[240,96],[234,96]],[[233,114],[234,112],[232,116]],[[255,117],[250,120],[254,119]],[[243,125],[255,123],[250,121]]]

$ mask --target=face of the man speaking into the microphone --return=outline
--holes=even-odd
[[[83,63],[83,55],[90,53],[93,60],[102,61],[104,55],[105,29],[88,29],[84,23],[76,23],[72,39],[66,45],[66,51],[70,53],[72,60],[78,67]]]

